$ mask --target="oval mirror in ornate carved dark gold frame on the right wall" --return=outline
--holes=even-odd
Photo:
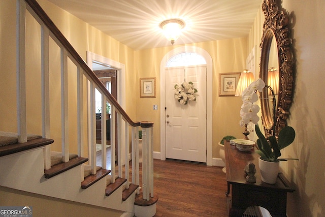
[[[294,54],[289,18],[276,0],[264,0],[262,9],[265,15],[261,43],[261,64],[259,77],[271,86],[275,98],[268,88],[261,95],[262,121],[266,136],[277,136],[286,126],[289,108],[293,97]],[[278,83],[276,83],[278,79]],[[276,85],[278,84],[278,86]],[[275,113],[273,112],[275,108]]]

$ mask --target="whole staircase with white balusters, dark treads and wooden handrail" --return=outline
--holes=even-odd
[[[26,102],[26,13],[41,26],[42,120],[27,115]],[[153,123],[134,122],[106,87],[60,33],[36,0],[17,0],[17,132],[0,132],[0,185],[24,192],[125,212],[123,216],[153,216],[157,195],[153,192]],[[28,15],[29,16],[29,15]],[[50,113],[49,39],[60,49],[60,116]],[[73,63],[76,70],[71,71]],[[68,85],[75,74],[76,89]],[[68,76],[69,75],[69,76]],[[71,82],[69,80],[69,82]],[[102,142],[102,164],[96,165],[95,89],[102,94],[102,106],[111,105],[111,168],[107,168],[106,142]],[[72,92],[72,93],[71,93]],[[84,94],[86,92],[86,94]],[[75,94],[76,93],[76,94]],[[74,96],[76,104],[71,105]],[[68,115],[75,107],[76,118]],[[102,111],[105,112],[105,111]],[[114,115],[115,114],[115,115]],[[58,121],[60,129],[51,128]],[[41,136],[31,135],[27,123],[41,126]],[[51,122],[51,124],[50,124]],[[77,123],[71,125],[71,122]],[[106,141],[106,115],[102,113],[101,141]],[[77,135],[70,133],[77,128]],[[129,132],[131,129],[131,132]],[[142,130],[142,163],[139,163],[139,130]],[[59,132],[58,132],[59,131]],[[2,133],[2,134],[1,134]],[[54,141],[51,134],[60,134]],[[71,138],[77,137],[77,144]],[[8,142],[10,140],[10,142]],[[117,141],[117,143],[115,142]],[[53,151],[54,149],[55,151]],[[60,149],[59,151],[57,149]],[[77,153],[71,153],[76,150]],[[116,154],[115,154],[116,153]],[[131,162],[131,163],[129,163]],[[4,166],[6,165],[6,166]],[[140,171],[142,169],[142,171]],[[140,174],[142,177],[140,179]]]

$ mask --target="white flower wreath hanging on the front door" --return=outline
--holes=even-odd
[[[182,84],[175,84],[175,99],[181,104],[186,105],[188,101],[196,101],[197,98],[194,94],[198,92],[196,88],[193,87],[193,82],[184,81]]]

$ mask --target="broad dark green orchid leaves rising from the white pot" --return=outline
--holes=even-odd
[[[279,133],[278,139],[275,136],[269,136],[267,139],[262,134],[261,130],[259,130],[258,125],[255,125],[255,132],[258,136],[257,146],[259,150],[255,150],[261,156],[262,160],[270,161],[270,162],[279,162],[286,160],[298,160],[298,159],[279,159],[281,156],[280,150],[287,147],[296,137],[296,132],[294,128],[286,126],[282,128]]]

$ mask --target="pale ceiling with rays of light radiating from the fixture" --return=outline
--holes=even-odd
[[[159,23],[185,21],[175,45],[245,37],[262,0],[49,0],[135,49],[172,46]]]

